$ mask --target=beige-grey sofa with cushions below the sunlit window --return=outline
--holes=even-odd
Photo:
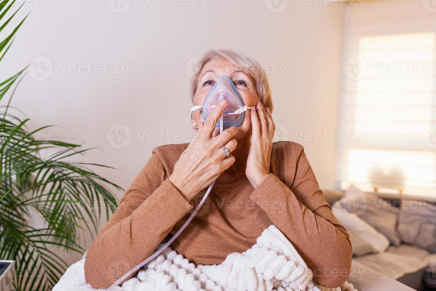
[[[330,206],[332,206],[335,216],[340,223],[344,224],[350,236],[354,236],[351,230],[355,228],[355,225],[358,224],[359,221],[350,223],[349,220],[363,217],[369,225],[373,224],[376,228],[374,231],[378,233],[377,230],[380,230],[384,233],[384,240],[386,240],[385,246],[380,248],[377,244],[373,243],[375,248],[372,248],[372,251],[365,251],[360,246],[355,246],[354,240],[351,239],[353,264],[368,267],[415,290],[436,290],[435,274],[433,273],[436,270],[436,253],[434,250],[435,244],[431,242],[432,239],[433,241],[436,240],[436,223],[432,220],[436,219],[436,210],[428,210],[431,208],[429,205],[433,206],[436,205],[436,203],[434,203],[434,201],[421,200],[425,206],[423,210],[417,209],[411,211],[414,211],[412,213],[417,213],[425,219],[429,217],[430,219],[428,223],[413,224],[422,219],[408,217],[408,210],[405,210],[406,207],[404,205],[411,205],[410,203],[417,202],[413,197],[406,195],[364,193],[357,188],[349,189],[347,192],[323,191],[324,198]],[[352,201],[351,203],[353,204],[355,200],[360,201],[361,205],[367,208],[363,210],[358,209],[358,207],[350,208],[350,205],[348,205],[349,201]],[[364,203],[362,203],[363,200]],[[370,209],[371,202],[368,202],[369,200],[376,201],[377,209]],[[402,209],[402,207],[404,209]],[[411,207],[407,209],[409,208]],[[347,209],[351,209],[351,211],[355,212],[355,214],[350,214],[352,215],[350,219],[347,219],[347,216],[341,214],[342,212],[347,212]],[[426,214],[426,211],[429,213]],[[364,217],[364,212],[371,213],[369,213],[367,217]],[[412,224],[408,225],[407,223]],[[347,227],[347,225],[349,227]],[[412,233],[412,235],[409,235],[409,233]],[[368,236],[371,235],[372,233],[368,234]],[[374,235],[382,234],[374,233]],[[365,239],[365,237],[363,238]],[[378,239],[375,239],[375,242],[380,243]]]

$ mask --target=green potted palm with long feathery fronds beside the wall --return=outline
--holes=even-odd
[[[20,9],[6,19],[4,16],[8,11],[12,13],[14,3],[15,0],[0,1],[0,32]],[[0,61],[24,19],[0,42]],[[23,72],[24,69],[0,83],[0,101],[11,87],[16,88]],[[13,95],[11,92],[10,98]],[[110,189],[121,188],[89,169],[105,166],[67,161],[89,149],[58,140],[39,140],[35,134],[47,127],[27,130],[29,119],[10,113],[10,99],[2,108],[0,259],[16,261],[16,290],[51,290],[68,267],[54,250],[83,253],[78,244],[79,229],[97,233],[102,213],[109,219],[117,206]],[[50,154],[41,157],[41,151]],[[32,225],[29,217],[35,214],[43,219],[43,227]]]

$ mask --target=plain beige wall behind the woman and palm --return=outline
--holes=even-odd
[[[146,3],[131,0],[123,13],[111,11],[105,1],[34,1],[34,7],[25,6],[33,11],[2,61],[1,77],[35,57],[41,68],[49,69],[38,76],[32,66],[12,105],[31,117],[33,127],[61,126],[45,132],[51,137],[98,147],[82,160],[117,168],[99,173],[127,188],[154,147],[181,143],[177,133],[191,134],[187,72],[192,60],[208,48],[239,49],[265,65],[278,128],[305,146],[321,187],[334,188],[336,144],[298,140],[295,130],[297,135],[302,130],[337,131],[343,6],[284,0],[286,10],[274,13],[264,1],[209,0],[204,9],[197,0],[191,6]],[[74,72],[87,63],[108,64],[110,70],[129,67],[125,76]],[[117,149],[107,133],[114,125],[112,130],[122,129],[120,123],[131,134],[126,147]],[[166,131],[170,138],[164,140],[143,136]],[[90,243],[88,237],[83,245]],[[79,258],[65,257],[70,263]]]

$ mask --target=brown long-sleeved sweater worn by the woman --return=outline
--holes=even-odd
[[[190,216],[193,206],[167,179],[186,147],[171,144],[153,150],[86,254],[85,278],[92,287],[109,287],[149,257]],[[303,147],[275,143],[270,171],[256,189],[246,177],[232,184],[215,183],[202,209],[171,248],[194,264],[220,264],[229,253],[249,249],[274,224],[319,284],[339,287],[350,272],[351,243],[325,201]],[[204,192],[192,204],[198,205]]]

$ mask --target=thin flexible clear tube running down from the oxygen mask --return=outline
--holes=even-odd
[[[222,126],[222,115],[219,119],[219,132],[222,133],[223,130],[223,126]],[[212,182],[211,185],[209,185],[208,190],[206,191],[206,193],[204,194],[203,198],[201,199],[200,203],[198,204],[197,208],[194,210],[194,212],[192,212],[191,216],[189,216],[188,220],[184,223],[184,225],[177,231],[177,233],[171,237],[171,239],[164,244],[164,246],[162,246],[159,250],[157,250],[156,252],[154,252],[150,257],[146,258],[145,260],[143,260],[142,262],[140,262],[139,264],[136,265],[136,267],[133,267],[132,270],[129,270],[126,274],[123,275],[123,277],[119,278],[115,283],[113,283],[107,290],[111,291],[113,288],[115,288],[116,286],[118,286],[119,284],[121,284],[124,280],[126,280],[131,274],[133,274],[134,272],[136,272],[137,270],[139,270],[143,265],[147,264],[148,262],[150,262],[151,260],[153,260],[155,257],[159,256],[160,253],[162,253],[168,246],[170,246],[171,243],[174,242],[174,240],[177,238],[177,236],[179,236],[179,234],[182,233],[182,231],[186,228],[186,226],[191,222],[192,219],[194,219],[194,216],[197,214],[197,212],[200,210],[201,206],[203,205],[204,201],[206,201],[206,199],[208,198],[209,193],[212,190],[212,187],[215,184],[215,180]]]

